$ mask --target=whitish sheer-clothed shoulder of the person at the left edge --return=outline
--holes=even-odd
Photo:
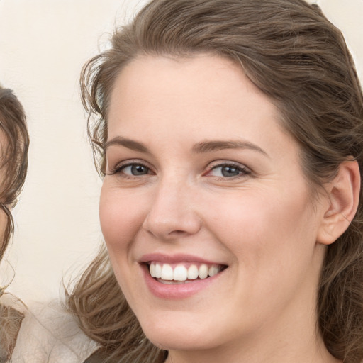
[[[98,349],[57,301],[28,306],[11,356],[17,363],[82,363]]]

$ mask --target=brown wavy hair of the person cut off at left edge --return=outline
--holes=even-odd
[[[0,240],[0,260],[13,235],[11,208],[16,205],[28,169],[29,135],[23,106],[11,89],[0,86],[0,208],[6,229]]]

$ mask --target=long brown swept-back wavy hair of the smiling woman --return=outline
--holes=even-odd
[[[340,30],[303,0],[154,0],[117,29],[111,48],[89,60],[82,101],[96,168],[104,145],[111,91],[139,55],[233,60],[279,108],[301,147],[301,164],[318,188],[345,160],[363,167],[363,97]],[[325,346],[345,363],[363,359],[363,203],[345,233],[328,246],[318,286],[318,326]],[[125,301],[104,247],[86,269],[68,307],[99,342],[105,362],[163,362]]]

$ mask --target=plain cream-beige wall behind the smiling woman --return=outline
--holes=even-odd
[[[363,79],[363,0],[320,0],[345,33]],[[0,0],[0,82],[28,115],[30,166],[14,210],[16,235],[7,260],[9,291],[25,301],[57,297],[101,243],[101,181],[86,141],[78,77],[107,46],[113,26],[143,0]],[[0,266],[0,285],[12,277]]]

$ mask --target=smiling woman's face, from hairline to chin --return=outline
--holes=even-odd
[[[328,201],[312,201],[298,145],[240,67],[209,55],[130,63],[106,157],[101,228],[152,342],[205,350],[312,333]]]

